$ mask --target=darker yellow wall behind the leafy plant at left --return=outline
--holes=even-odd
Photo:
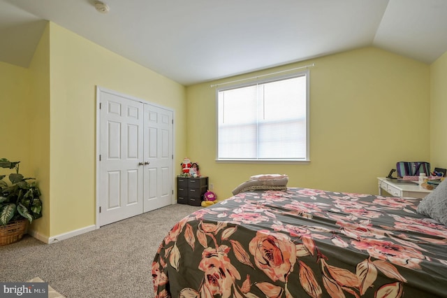
[[[47,28],[29,69],[0,62],[0,157],[20,161],[20,173],[36,178],[42,192],[43,218],[34,221],[30,229],[43,236],[50,232],[48,32]],[[0,174],[10,172],[0,169]]]

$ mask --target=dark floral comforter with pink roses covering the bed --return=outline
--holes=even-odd
[[[177,223],[156,297],[447,297],[447,227],[420,199],[242,192]]]

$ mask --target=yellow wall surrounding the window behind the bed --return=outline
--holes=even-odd
[[[215,162],[216,91],[210,85],[312,63],[311,162]],[[289,186],[376,194],[376,177],[386,176],[396,162],[430,160],[430,66],[384,50],[362,48],[193,85],[186,97],[187,152],[219,199],[258,173],[286,173]]]

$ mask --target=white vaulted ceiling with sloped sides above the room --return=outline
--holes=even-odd
[[[29,66],[50,20],[192,85],[376,46],[430,64],[447,51],[446,0],[0,0],[0,61]]]

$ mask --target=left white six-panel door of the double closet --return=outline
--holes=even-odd
[[[100,225],[142,213],[144,104],[101,92]]]

